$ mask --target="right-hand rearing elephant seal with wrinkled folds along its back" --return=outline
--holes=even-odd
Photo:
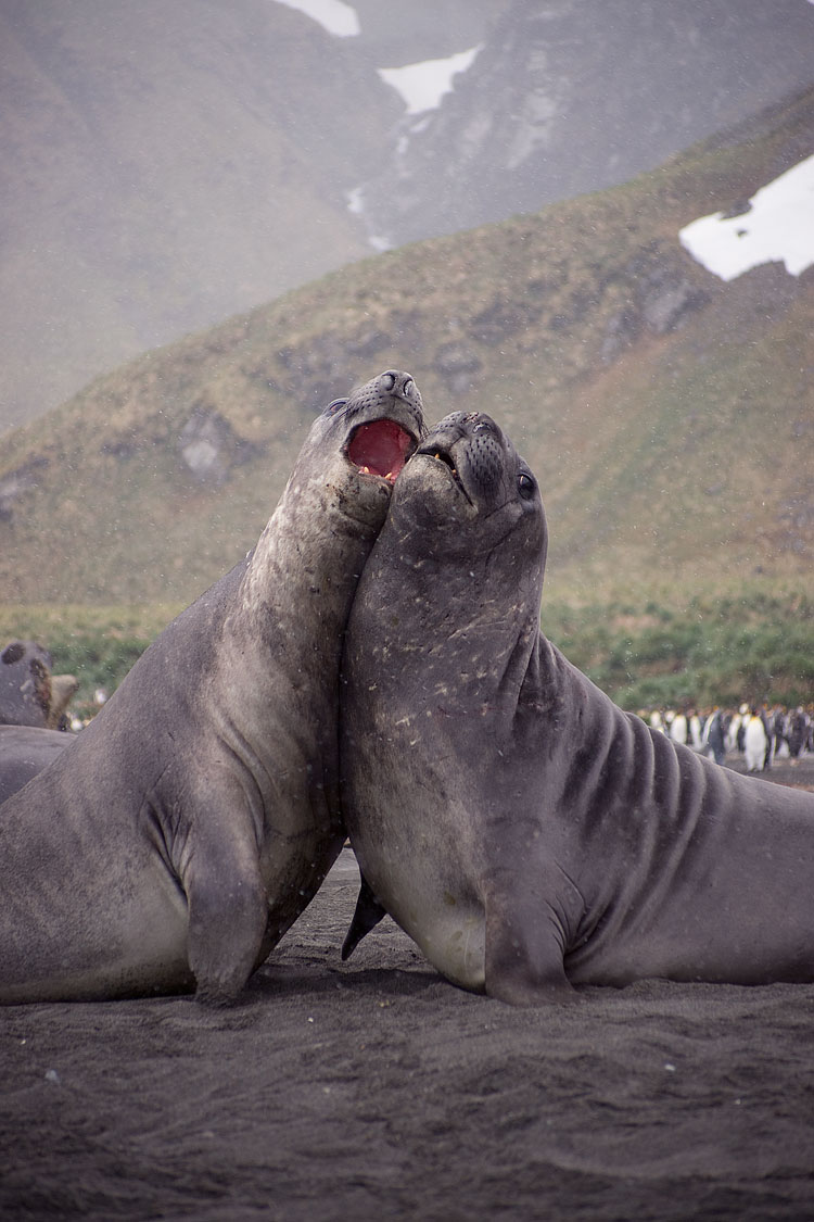
[[[814,980],[814,796],[698,758],[546,639],[537,483],[447,417],[399,475],[342,668],[343,809],[365,879],[452,981]]]

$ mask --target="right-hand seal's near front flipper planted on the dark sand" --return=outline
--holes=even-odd
[[[565,975],[561,930],[548,906],[524,902],[516,880],[486,897],[486,980],[489,997],[510,1006],[575,1001]]]

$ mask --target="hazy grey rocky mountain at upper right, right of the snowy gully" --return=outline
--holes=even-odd
[[[400,246],[624,182],[813,65],[804,0],[513,0],[441,108],[403,121],[367,222]]]

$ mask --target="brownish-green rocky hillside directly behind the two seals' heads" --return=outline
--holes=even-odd
[[[810,593],[814,275],[724,282],[679,231],[812,153],[814,90],[658,171],[354,264],[98,379],[0,453],[6,601],[190,600],[315,411],[386,368],[538,473],[549,585]]]

